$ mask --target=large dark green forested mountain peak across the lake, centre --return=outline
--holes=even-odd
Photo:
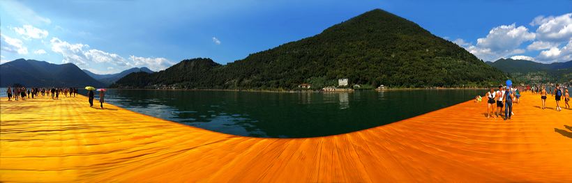
[[[187,67],[202,65],[200,74],[193,69],[170,68],[153,74],[129,74],[114,86],[293,89],[300,83],[319,88],[347,78],[349,83],[374,86],[451,87],[488,86],[506,78],[453,42],[379,9],[234,63],[204,63],[207,60],[183,61]],[[193,66],[194,62],[200,63]]]

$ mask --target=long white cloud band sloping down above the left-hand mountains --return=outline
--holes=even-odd
[[[50,43],[52,45],[52,51],[63,56],[63,63],[74,63],[82,67],[89,67],[89,64],[110,64],[106,66],[117,66],[125,69],[127,69],[127,67],[144,66],[149,67],[151,70],[164,70],[166,67],[170,67],[174,64],[167,58],[146,58],[132,55],[126,59],[119,56],[119,54],[109,53],[99,49],[90,49],[89,45],[81,43],[71,44],[59,38],[52,38]],[[94,71],[103,73],[97,70]]]

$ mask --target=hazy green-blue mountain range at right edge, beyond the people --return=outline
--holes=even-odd
[[[572,61],[545,64],[501,58],[486,63],[508,73],[509,77],[518,83],[572,83]]]

